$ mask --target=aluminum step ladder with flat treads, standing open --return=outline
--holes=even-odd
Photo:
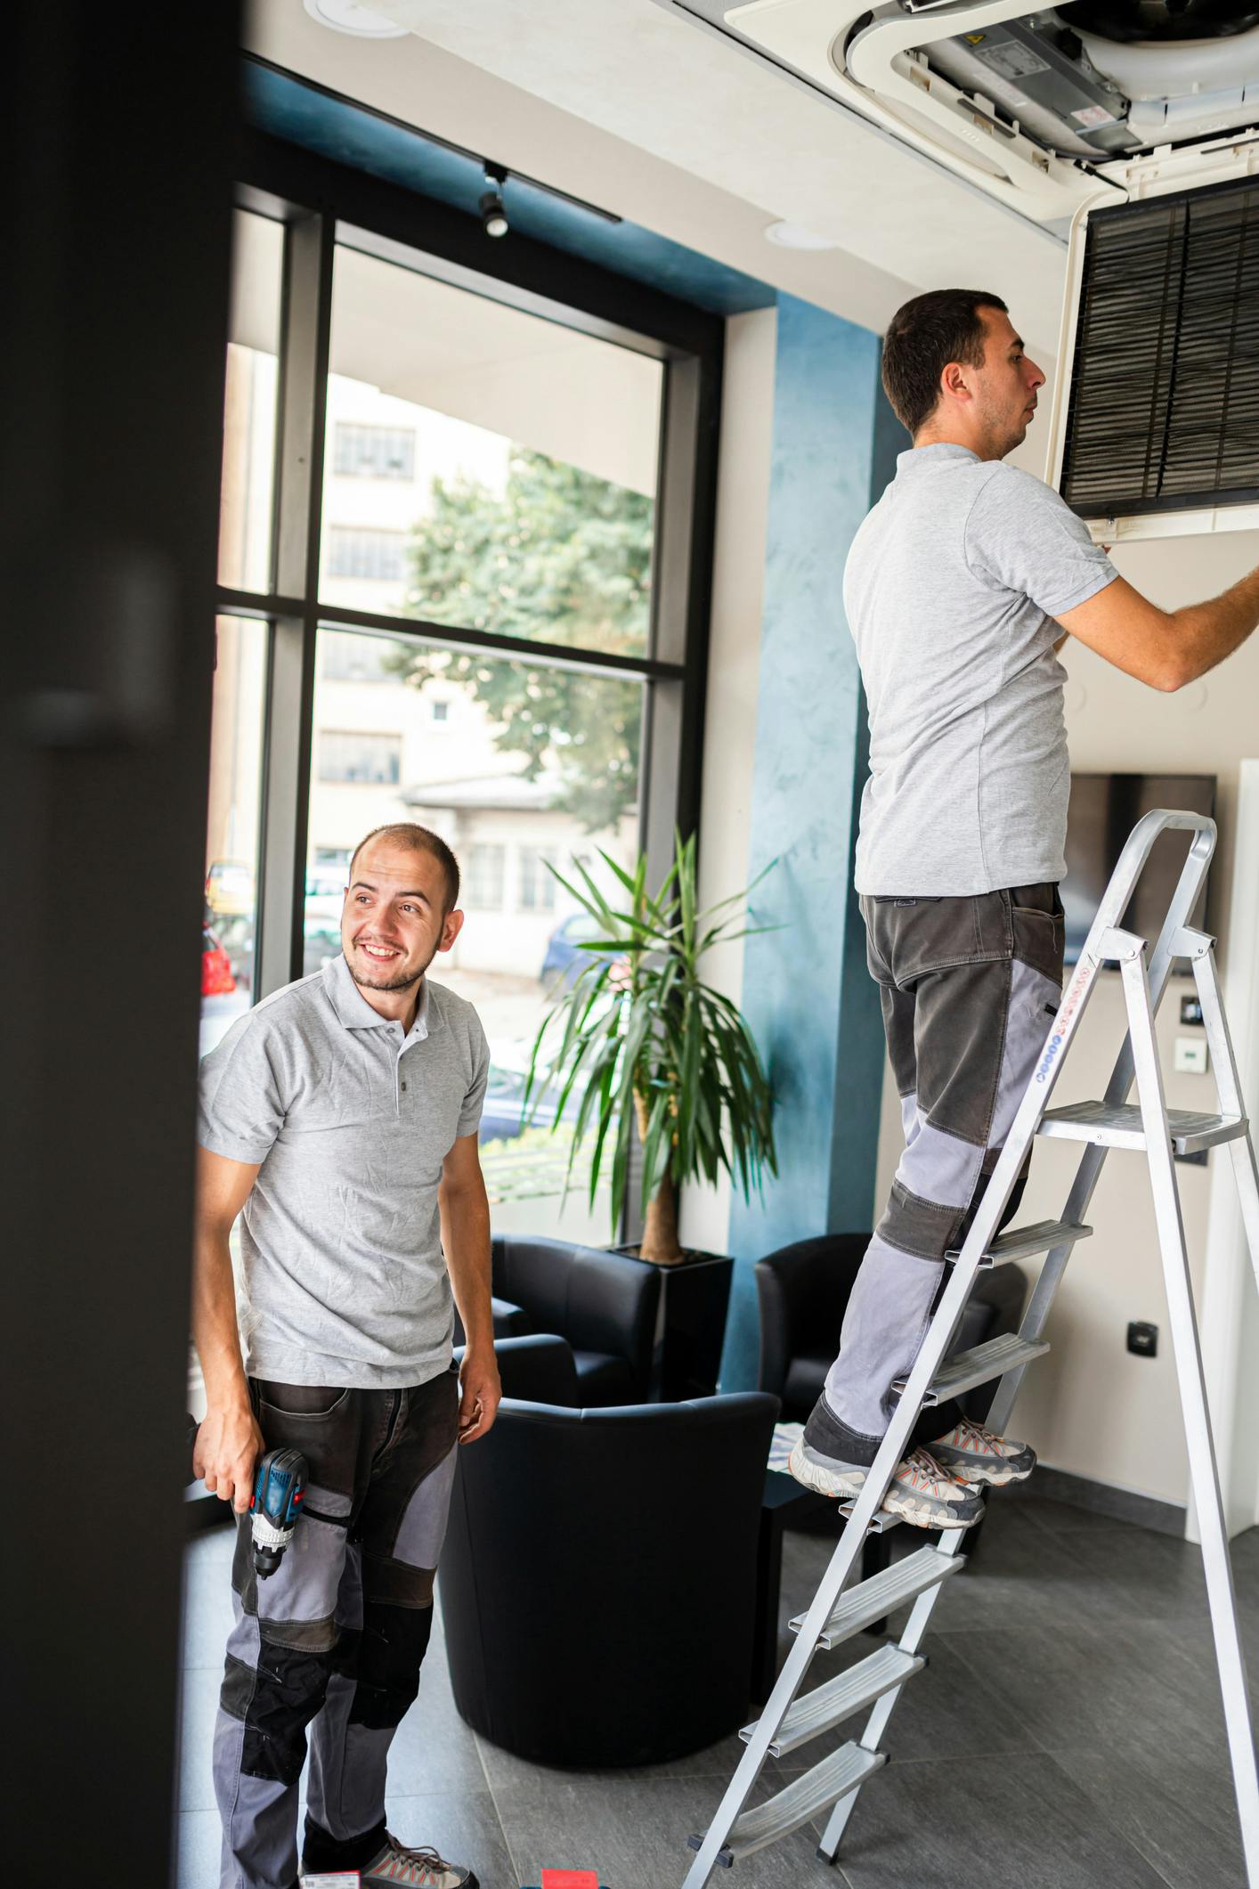
[[[1159,933],[1153,956],[1146,962],[1148,943],[1119,929],[1133,888],[1146,865],[1159,833],[1183,829],[1193,833],[1172,903]],[[693,1836],[698,1851],[687,1872],[683,1889],[702,1889],[717,1864],[732,1864],[740,1857],[787,1836],[823,1812],[831,1812],[817,1855],[834,1863],[848,1819],[853,1813],[863,1783],[887,1762],[880,1749],[887,1723],[908,1679],[921,1672],[919,1653],[931,1609],[946,1579],[965,1566],[966,1530],[948,1530],[940,1540],[876,1574],[868,1581],[848,1587],[859,1562],[866,1532],[893,1526],[897,1517],[881,1509],[893,1470],[919,1411],[972,1385],[1000,1379],[987,1424],[1004,1434],[1014,1411],[1023,1371],[1049,1347],[1042,1339],[1059,1279],[1078,1241],[1091,1232],[1085,1213],[1093,1188],[1110,1149],[1136,1149],[1150,1164],[1150,1184],[1157,1220],[1159,1251],[1176,1354],[1176,1377],[1189,1445],[1189,1473],[1202,1534],[1202,1562],[1210,1602],[1219,1687],[1229,1736],[1229,1755],[1236,1787],[1236,1804],[1246,1857],[1246,1881],[1259,1889],[1259,1778],[1255,1774],[1255,1744],[1246,1693],[1246,1666],[1238,1638],[1233,1596],[1233,1572],[1225,1530],[1223,1500],[1216,1472],[1206,1381],[1193,1311],[1193,1286],[1185,1252],[1185,1232],[1176,1190],[1174,1154],[1193,1154],[1227,1141],[1233,1173],[1240,1194],[1242,1220],[1250,1256],[1259,1285],[1259,1169],[1255,1149],[1238,1090],[1236,1062],[1229,1026],[1225,1022],[1216,975],[1214,939],[1189,927],[1206,865],[1216,848],[1216,825],[1200,814],[1155,810],[1146,814],[1127,839],[1119,863],[1106,886],[1097,918],[1080,954],[1066,994],[1046,1039],[1044,1054],[1019,1105],[1010,1139],[980,1201],[970,1232],[959,1252],[949,1254],[951,1275],[936,1315],[927,1330],[921,1351],[908,1379],[897,1385],[900,1398],[883,1445],[861,1494],[844,1504],[848,1526],[831,1558],[808,1613],[791,1621],[797,1634],[778,1683],[764,1711],[740,1734],[747,1749],[721,1798],[706,1836]],[[1174,960],[1189,960],[1202,1005],[1202,1022],[1216,1075],[1219,1113],[1199,1115],[1168,1111],[1163,1096],[1153,1018],[1167,988]],[[1123,977],[1129,1033],[1116,1062],[1102,1101],[1072,1103],[1049,1109],[1053,1086],[1074,1041],[1080,1018],[1102,965],[1117,963]],[[1136,1082],[1134,1103],[1127,1101]],[[1057,1135],[1085,1143],[1066,1209],[1061,1220],[1042,1220],[1008,1234],[997,1234],[1002,1209],[1029,1152],[1032,1135]],[[963,1313],[976,1273],[987,1266],[1046,1252],[1046,1264],[1023,1315],[1017,1337],[997,1337],[974,1351],[949,1358],[946,1354]],[[898,1643],[885,1643],[868,1659],[814,1691],[802,1683],[819,1647],[834,1647],[881,1619],[893,1608],[914,1600],[910,1621]],[[795,1778],[776,1795],[757,1791],[766,1757],[780,1757],[844,1719],[872,1706],[865,1730],[853,1742],[829,1753],[819,1764]]]

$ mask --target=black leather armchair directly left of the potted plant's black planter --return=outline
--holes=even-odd
[[[661,1303],[655,1266],[519,1234],[495,1234],[491,1249],[495,1337],[555,1332],[568,1339],[585,1407],[647,1398]]]

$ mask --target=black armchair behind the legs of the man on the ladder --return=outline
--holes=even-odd
[[[759,1385],[781,1398],[783,1422],[804,1422],[821,1396],[840,1349],[848,1296],[868,1243],[868,1234],[823,1234],[757,1260]],[[995,1266],[980,1273],[949,1356],[1002,1332],[1017,1332],[1025,1296],[1027,1281],[1017,1266]],[[982,1422],[995,1388],[978,1385],[959,1400],[963,1411]]]

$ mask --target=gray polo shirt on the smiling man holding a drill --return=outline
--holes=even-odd
[[[481,1022],[427,977],[410,1035],[344,958],[264,997],[200,1067],[198,1141],[260,1162],[242,1213],[245,1370],[398,1388],[449,1366],[442,1162],[476,1133]]]

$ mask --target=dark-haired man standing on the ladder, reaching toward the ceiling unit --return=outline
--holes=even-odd
[[[793,1475],[865,1483],[1014,1122],[1063,992],[1070,763],[1066,633],[1155,689],[1223,661],[1259,621],[1259,570],[1159,610],[1055,491],[1004,465],[1044,374],[995,295],[940,289],[897,312],[883,387],[914,446],[853,538],[844,606],[870,706],[857,892],[906,1149]],[[1014,1215],[1023,1177],[1002,1226]],[[1023,1481],[1027,1445],[929,1409],[885,1507],[966,1528],[976,1492]],[[932,1436],[934,1432],[934,1436]]]

